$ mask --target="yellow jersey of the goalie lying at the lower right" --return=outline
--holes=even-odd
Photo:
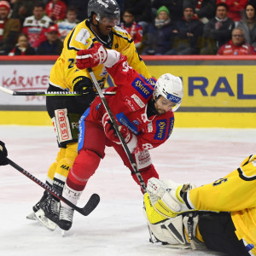
[[[256,255],[256,154],[227,176],[189,191],[198,210],[230,212],[236,236]]]

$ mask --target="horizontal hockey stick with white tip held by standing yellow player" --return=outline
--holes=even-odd
[[[0,86],[0,90],[5,93],[8,93],[12,96],[82,96],[77,91],[18,91],[18,90],[9,90]],[[108,91],[104,92],[105,95],[114,95],[114,92]]]

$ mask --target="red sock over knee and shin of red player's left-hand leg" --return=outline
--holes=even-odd
[[[67,185],[78,191],[83,190],[89,178],[96,172],[100,161],[100,156],[93,151],[80,150],[67,177]]]

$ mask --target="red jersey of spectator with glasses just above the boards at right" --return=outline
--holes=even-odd
[[[218,49],[218,55],[255,55],[252,45],[243,43],[240,46],[233,44],[232,40],[228,44],[222,45]]]

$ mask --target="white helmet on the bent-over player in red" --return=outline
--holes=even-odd
[[[168,101],[174,102],[175,106],[172,108],[172,111],[176,111],[183,98],[183,82],[179,77],[171,73],[165,73],[157,79],[153,95],[156,99],[159,96],[163,96]]]

